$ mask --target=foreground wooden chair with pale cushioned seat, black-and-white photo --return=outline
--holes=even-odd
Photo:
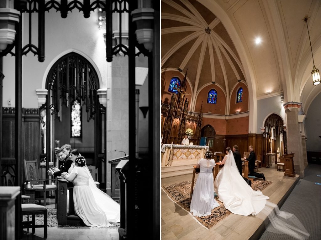
[[[43,225],[35,224],[35,215],[43,215]],[[23,215],[28,215],[27,221],[23,221]],[[29,220],[29,215],[32,216],[31,221]],[[44,228],[44,238],[47,237],[47,208],[45,206],[41,206],[34,203],[22,203],[21,204],[21,221],[22,221],[22,229],[29,228],[32,229],[32,234],[35,233],[35,228],[43,227]]]

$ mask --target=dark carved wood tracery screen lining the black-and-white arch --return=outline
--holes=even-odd
[[[85,107],[87,121],[94,120],[94,159],[98,170],[98,181],[102,184],[102,163],[104,158],[99,157],[105,151],[105,131],[102,131],[102,123],[105,118],[105,107],[98,100],[97,90],[99,79],[91,63],[77,53],[69,53],[59,58],[51,67],[47,76],[46,88],[48,89],[47,102],[41,108],[47,109],[46,127],[46,155],[49,161],[54,156],[54,120],[62,119],[62,106],[72,107],[74,101]],[[52,134],[50,134],[52,132]],[[65,143],[64,143],[65,144]]]

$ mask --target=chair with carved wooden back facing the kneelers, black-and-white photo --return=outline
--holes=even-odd
[[[41,203],[41,200],[43,200],[43,205],[46,206],[46,194],[48,191],[55,191],[56,185],[52,184],[46,184],[46,180],[54,181],[55,179],[39,179],[39,168],[37,164],[37,160],[32,161],[26,161],[26,159],[23,159],[24,162],[24,172],[25,172],[25,181],[29,181],[31,184],[33,184],[33,188],[36,189],[35,193],[38,193],[38,196],[35,196],[35,200],[39,201],[39,204]],[[34,184],[37,183],[37,184]],[[43,193],[43,196],[40,196],[40,193]]]

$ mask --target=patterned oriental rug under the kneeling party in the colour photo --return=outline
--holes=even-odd
[[[196,182],[196,180],[195,180],[195,182]],[[194,182],[194,186],[195,186],[195,182]],[[169,199],[171,199],[173,202],[177,203],[182,209],[189,212],[190,211],[190,204],[191,204],[191,200],[189,198],[189,194],[191,191],[191,183],[192,183],[192,181],[174,183],[171,185],[163,186],[162,190],[167,194]],[[271,183],[272,183],[271,181],[267,181],[267,180],[266,181],[254,180],[254,181],[252,181],[251,187],[253,190],[262,191]],[[224,207],[224,205],[221,201],[217,200],[217,202],[220,204],[220,206],[217,208],[214,208],[212,210],[211,215],[209,215],[209,216],[195,217],[195,216],[192,216],[191,214],[190,215],[193,218],[195,218],[205,228],[210,229],[216,223],[221,221],[223,218],[226,218],[231,213],[229,210],[227,210]]]

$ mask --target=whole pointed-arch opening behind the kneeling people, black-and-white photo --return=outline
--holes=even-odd
[[[72,52],[56,61],[46,80],[46,103],[40,107],[41,152],[47,163],[56,164],[55,148],[70,144],[86,158],[100,188],[106,189],[105,107],[98,100],[99,87],[86,58]]]

